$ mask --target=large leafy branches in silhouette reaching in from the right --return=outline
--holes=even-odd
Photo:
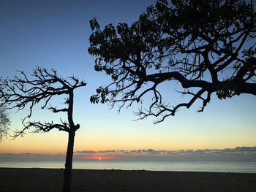
[[[89,54],[96,56],[94,69],[113,82],[99,87],[91,102],[118,103],[120,110],[151,93],[150,106],[137,115],[159,123],[195,101],[202,101],[203,112],[212,93],[256,96],[255,15],[253,1],[159,0],[131,26],[101,30],[93,18]],[[165,103],[159,85],[173,81],[187,102]]]

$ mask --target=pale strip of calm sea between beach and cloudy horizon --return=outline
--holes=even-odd
[[[0,167],[64,168],[64,160],[0,158]],[[256,173],[256,162],[74,160],[73,169]]]

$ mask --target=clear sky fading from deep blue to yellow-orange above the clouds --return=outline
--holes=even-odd
[[[154,118],[137,120],[133,114],[140,108],[134,104],[110,110],[107,104],[91,104],[89,98],[99,85],[107,85],[110,78],[94,71],[94,57],[89,55],[89,20],[97,18],[99,25],[109,23],[131,24],[138,20],[146,7],[155,1],[0,1],[0,76],[13,77],[17,70],[31,74],[35,67],[56,69],[61,77],[75,75],[88,82],[86,88],[75,91],[75,123],[80,130],[75,137],[75,154],[95,154],[105,158],[135,157],[135,154],[154,153],[190,154],[203,150],[208,152],[233,150],[236,147],[256,146],[256,98],[250,95],[234,96],[219,100],[213,95],[204,112],[198,113],[199,103],[189,110],[181,108],[176,116],[155,125]],[[167,102],[184,101],[173,91],[170,84],[162,85]],[[63,98],[53,101],[58,105]],[[21,119],[27,111],[10,113],[10,133],[22,128]],[[39,107],[34,120],[59,120]],[[61,116],[64,117],[64,116]],[[2,156],[8,154],[64,154],[67,150],[67,133],[50,131],[46,134],[27,133],[15,140],[4,139],[0,143]],[[207,150],[206,150],[207,149]],[[248,148],[246,148],[248,149]],[[90,152],[91,151],[91,152]],[[100,153],[100,152],[108,152]],[[174,152],[173,152],[174,151]],[[209,152],[210,151],[210,152]],[[225,153],[230,153],[225,150]],[[105,155],[107,154],[107,155]],[[243,152],[243,154],[246,154]],[[0,155],[0,158],[1,158]],[[119,154],[120,155],[120,154]],[[152,158],[152,156],[146,156]],[[185,155],[186,156],[186,155]],[[17,155],[16,155],[17,157]],[[86,155],[85,155],[86,157]],[[254,156],[255,157],[255,156]],[[211,158],[211,155],[208,156]],[[250,156],[249,158],[252,158]]]

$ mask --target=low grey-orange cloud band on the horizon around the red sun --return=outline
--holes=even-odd
[[[64,159],[64,153],[0,153],[1,158]],[[74,159],[118,159],[131,161],[256,161],[256,147],[214,150],[80,150]]]

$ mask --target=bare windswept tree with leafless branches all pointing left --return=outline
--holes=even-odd
[[[1,80],[1,93],[0,96],[3,99],[3,104],[9,105],[10,109],[17,108],[18,110],[24,110],[25,107],[29,107],[29,114],[23,118],[23,128],[16,130],[13,137],[23,136],[30,128],[34,128],[34,133],[48,132],[53,128],[59,131],[66,131],[69,134],[67,155],[64,170],[64,183],[63,191],[71,191],[71,177],[72,177],[72,156],[75,139],[75,131],[80,128],[79,124],[74,123],[73,120],[73,99],[75,88],[86,86],[86,82],[79,81],[75,77],[68,77],[67,79],[61,78],[57,75],[55,70],[50,72],[46,69],[37,68],[31,75],[33,78],[30,80],[24,72],[20,72],[21,77],[15,76],[13,79]],[[55,96],[64,96],[65,108],[52,107],[49,101]],[[40,121],[31,122],[28,119],[31,118],[34,107],[42,103],[42,109],[47,108],[54,113],[66,112],[67,121],[61,120],[61,123],[42,123]]]

